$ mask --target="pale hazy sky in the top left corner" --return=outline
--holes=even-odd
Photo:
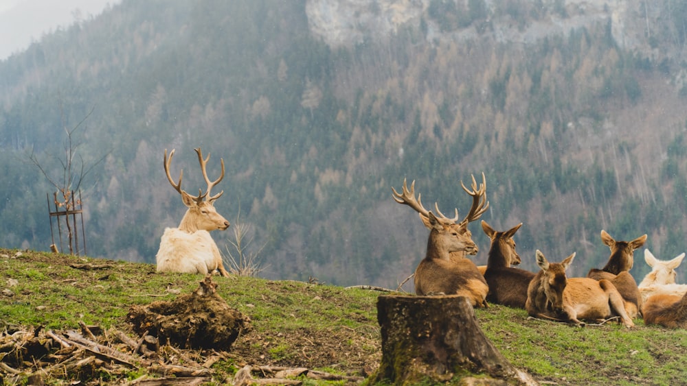
[[[107,4],[120,0],[0,0],[0,60],[23,51],[45,32],[98,15]]]

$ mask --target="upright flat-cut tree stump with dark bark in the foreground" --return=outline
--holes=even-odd
[[[470,302],[463,296],[380,296],[382,360],[372,383],[416,383],[423,378],[480,385],[537,385],[517,370],[484,336]]]

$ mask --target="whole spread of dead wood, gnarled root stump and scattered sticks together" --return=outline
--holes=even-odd
[[[303,367],[247,365],[228,352],[249,327],[249,318],[216,293],[207,276],[190,295],[174,302],[133,306],[127,321],[139,337],[117,328],[80,323],[79,330],[0,329],[0,385],[44,385],[56,380],[100,385],[300,385],[295,377],[360,383],[362,377],[329,374]],[[205,342],[202,340],[205,339]],[[194,350],[197,349],[197,350]],[[218,361],[238,363],[232,371]],[[131,374],[142,374],[130,380]]]

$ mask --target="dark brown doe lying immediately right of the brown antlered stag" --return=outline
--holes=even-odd
[[[511,265],[518,265],[521,261],[520,255],[515,251],[515,240],[513,240],[515,232],[521,226],[522,223],[506,232],[497,232],[482,220],[482,230],[491,239],[491,248],[484,271],[484,279],[489,286],[486,300],[524,309],[527,287],[530,285],[530,280],[534,278],[534,273],[511,267]]]

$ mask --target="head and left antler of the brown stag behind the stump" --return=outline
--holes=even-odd
[[[451,252],[477,253],[477,245],[465,233],[465,224],[456,223],[458,221],[458,209],[455,209],[455,217],[451,219],[444,216],[438,210],[437,204],[435,204],[435,207],[437,208],[438,215],[425,209],[420,200],[420,195],[417,198],[415,197],[415,181],[410,184],[410,189],[408,189],[407,181],[403,180],[403,194],[398,193],[393,187],[392,191],[394,192],[394,200],[398,204],[405,204],[413,208],[420,215],[420,218],[423,219],[425,226],[429,228],[429,240],[427,241],[428,258],[449,260]]]

